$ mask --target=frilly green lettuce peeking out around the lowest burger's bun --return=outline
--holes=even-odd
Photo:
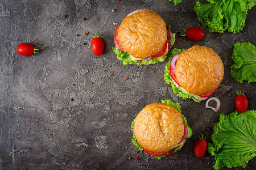
[[[181,114],[181,111],[180,111],[180,104],[179,104],[179,103],[174,103],[174,102],[172,102],[171,100],[162,100],[162,103],[171,105],[172,107],[174,107],[175,109],[177,109],[177,111],[180,112],[180,115],[181,115],[181,117],[182,117],[182,119],[183,119],[184,124],[187,125],[187,120],[186,120],[186,118],[184,117],[183,114]],[[134,123],[135,123],[135,118],[134,118],[134,120],[131,122],[131,131],[133,131],[133,139],[131,139],[131,141],[133,142],[133,144],[134,144],[136,147],[139,148],[139,150],[142,151],[143,148],[142,148],[142,146],[139,144],[139,142],[137,142],[137,139],[136,139],[135,134],[134,134]],[[178,150],[180,150],[180,149],[179,149],[179,148],[176,148],[176,150],[174,150],[174,151],[178,151]],[[170,152],[174,152],[174,151],[170,151]],[[166,155],[170,154],[170,152],[168,152]],[[166,155],[163,155],[163,156],[154,156],[154,157],[156,157],[156,158],[158,158],[158,159],[161,159],[161,158],[165,157]],[[151,156],[153,156],[153,155],[151,155]]]

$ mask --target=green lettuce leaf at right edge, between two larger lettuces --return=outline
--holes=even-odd
[[[237,82],[256,82],[256,48],[250,42],[236,42],[234,44],[234,65],[230,74]]]

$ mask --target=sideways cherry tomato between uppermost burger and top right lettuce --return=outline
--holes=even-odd
[[[181,36],[186,36],[188,40],[199,41],[204,37],[204,30],[199,27],[191,27],[187,31],[184,28],[182,29],[185,31],[185,34]]]

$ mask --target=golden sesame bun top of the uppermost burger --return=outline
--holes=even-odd
[[[166,42],[166,23],[148,9],[131,12],[118,29],[118,40],[123,49],[136,58],[155,56]]]

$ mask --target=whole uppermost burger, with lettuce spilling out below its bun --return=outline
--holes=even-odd
[[[124,65],[148,65],[164,61],[174,41],[171,28],[161,16],[140,9],[127,15],[115,28],[113,51]]]

